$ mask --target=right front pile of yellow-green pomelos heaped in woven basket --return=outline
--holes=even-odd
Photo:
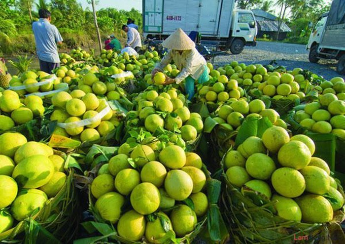
[[[244,196],[261,195],[257,205],[272,201],[276,214],[305,223],[326,223],[342,208],[344,196],[330,176],[328,164],[312,157],[314,142],[306,135],[289,137],[284,128],[272,126],[262,138],[248,137],[224,157],[228,181]],[[267,201],[265,201],[267,200]]]

